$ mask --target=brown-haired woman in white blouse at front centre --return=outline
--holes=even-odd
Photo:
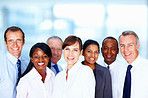
[[[81,39],[76,36],[68,36],[62,48],[67,67],[55,78],[52,98],[94,98],[93,71],[78,61],[82,52]]]

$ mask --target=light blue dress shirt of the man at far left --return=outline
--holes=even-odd
[[[21,73],[23,73],[27,68],[28,61],[22,57],[19,59],[21,60]],[[0,62],[0,97],[16,98],[17,58],[6,52],[6,55],[1,55]]]

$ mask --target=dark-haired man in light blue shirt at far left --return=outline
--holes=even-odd
[[[7,28],[4,33],[4,44],[7,47],[7,52],[1,55],[0,97],[16,98],[16,82],[19,78],[18,59],[21,62],[21,74],[28,65],[28,61],[21,57],[21,51],[25,44],[25,36],[21,28],[16,26]]]

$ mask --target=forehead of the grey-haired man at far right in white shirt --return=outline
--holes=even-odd
[[[120,44],[128,44],[128,43],[136,44],[136,37],[134,35],[121,36],[119,39],[119,43]]]

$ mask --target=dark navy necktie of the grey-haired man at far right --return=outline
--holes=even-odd
[[[132,65],[128,65],[126,71],[126,77],[124,81],[123,98],[130,98],[131,93],[131,70]]]

